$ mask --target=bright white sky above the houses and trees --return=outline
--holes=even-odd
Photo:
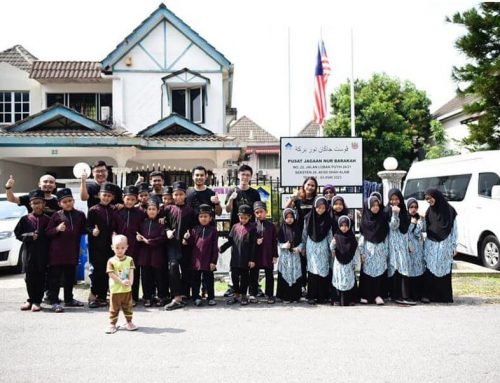
[[[465,63],[454,47],[465,30],[445,22],[445,17],[478,4],[465,0],[164,2],[234,64],[232,106],[238,117],[247,116],[277,137],[289,135],[289,130],[297,134],[312,119],[321,37],[332,68],[327,93],[351,77],[351,30],[355,78],[385,72],[409,80],[427,92],[431,112],[436,110],[455,95],[453,65]],[[3,2],[0,50],[21,44],[40,60],[100,61],[159,4],[160,0]]]

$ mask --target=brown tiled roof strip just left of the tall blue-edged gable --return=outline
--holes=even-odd
[[[44,79],[101,79],[98,61],[35,61],[30,78]]]

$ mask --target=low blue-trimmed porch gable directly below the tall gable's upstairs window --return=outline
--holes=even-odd
[[[180,114],[172,113],[171,115],[149,125],[146,129],[137,133],[139,137],[157,137],[171,135],[196,135],[208,136],[213,133],[204,127],[195,124]]]

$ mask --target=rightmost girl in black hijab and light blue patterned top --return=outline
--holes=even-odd
[[[424,257],[427,263],[425,290],[433,302],[452,303],[451,267],[457,253],[457,212],[437,189],[428,189],[425,199],[427,239]]]

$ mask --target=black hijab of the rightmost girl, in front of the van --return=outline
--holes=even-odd
[[[441,242],[450,235],[457,212],[439,190],[428,189],[425,195],[429,195],[436,200],[434,206],[429,206],[425,213],[427,238]]]

